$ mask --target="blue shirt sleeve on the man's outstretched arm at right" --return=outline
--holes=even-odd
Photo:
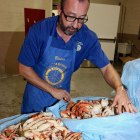
[[[98,39],[96,39],[93,44],[91,43],[87,59],[99,68],[103,68],[110,63],[107,56],[101,49],[101,44]]]

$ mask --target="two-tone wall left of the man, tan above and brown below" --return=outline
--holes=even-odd
[[[0,0],[0,76],[17,74],[17,57],[24,40],[24,8],[44,9],[51,16],[52,0]]]

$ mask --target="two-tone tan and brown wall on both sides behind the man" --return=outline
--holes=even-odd
[[[59,0],[55,0],[57,3]],[[140,57],[140,0],[91,0],[95,3],[119,4],[121,16],[119,37],[121,41],[132,41],[132,55]],[[51,15],[52,0],[0,0],[0,75],[18,73],[17,56],[24,39],[24,8],[45,9]],[[126,9],[126,10],[125,10]],[[123,35],[122,35],[123,34]],[[137,52],[137,54],[136,54]]]

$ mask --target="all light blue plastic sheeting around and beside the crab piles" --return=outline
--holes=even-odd
[[[125,64],[122,82],[128,88],[132,103],[140,111],[140,59]],[[98,100],[104,97],[77,97],[77,100]],[[47,108],[57,118],[60,111],[66,109],[67,102],[61,100]],[[16,115],[0,120],[0,132],[13,124],[26,120],[32,114]],[[123,113],[116,116],[95,117],[89,119],[62,119],[63,123],[73,132],[82,132],[84,140],[140,140],[140,112]]]

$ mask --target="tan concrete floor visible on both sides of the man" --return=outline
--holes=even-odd
[[[0,119],[20,113],[25,84],[19,75],[0,77]],[[72,97],[109,97],[111,91],[97,68],[80,68],[72,77]]]

